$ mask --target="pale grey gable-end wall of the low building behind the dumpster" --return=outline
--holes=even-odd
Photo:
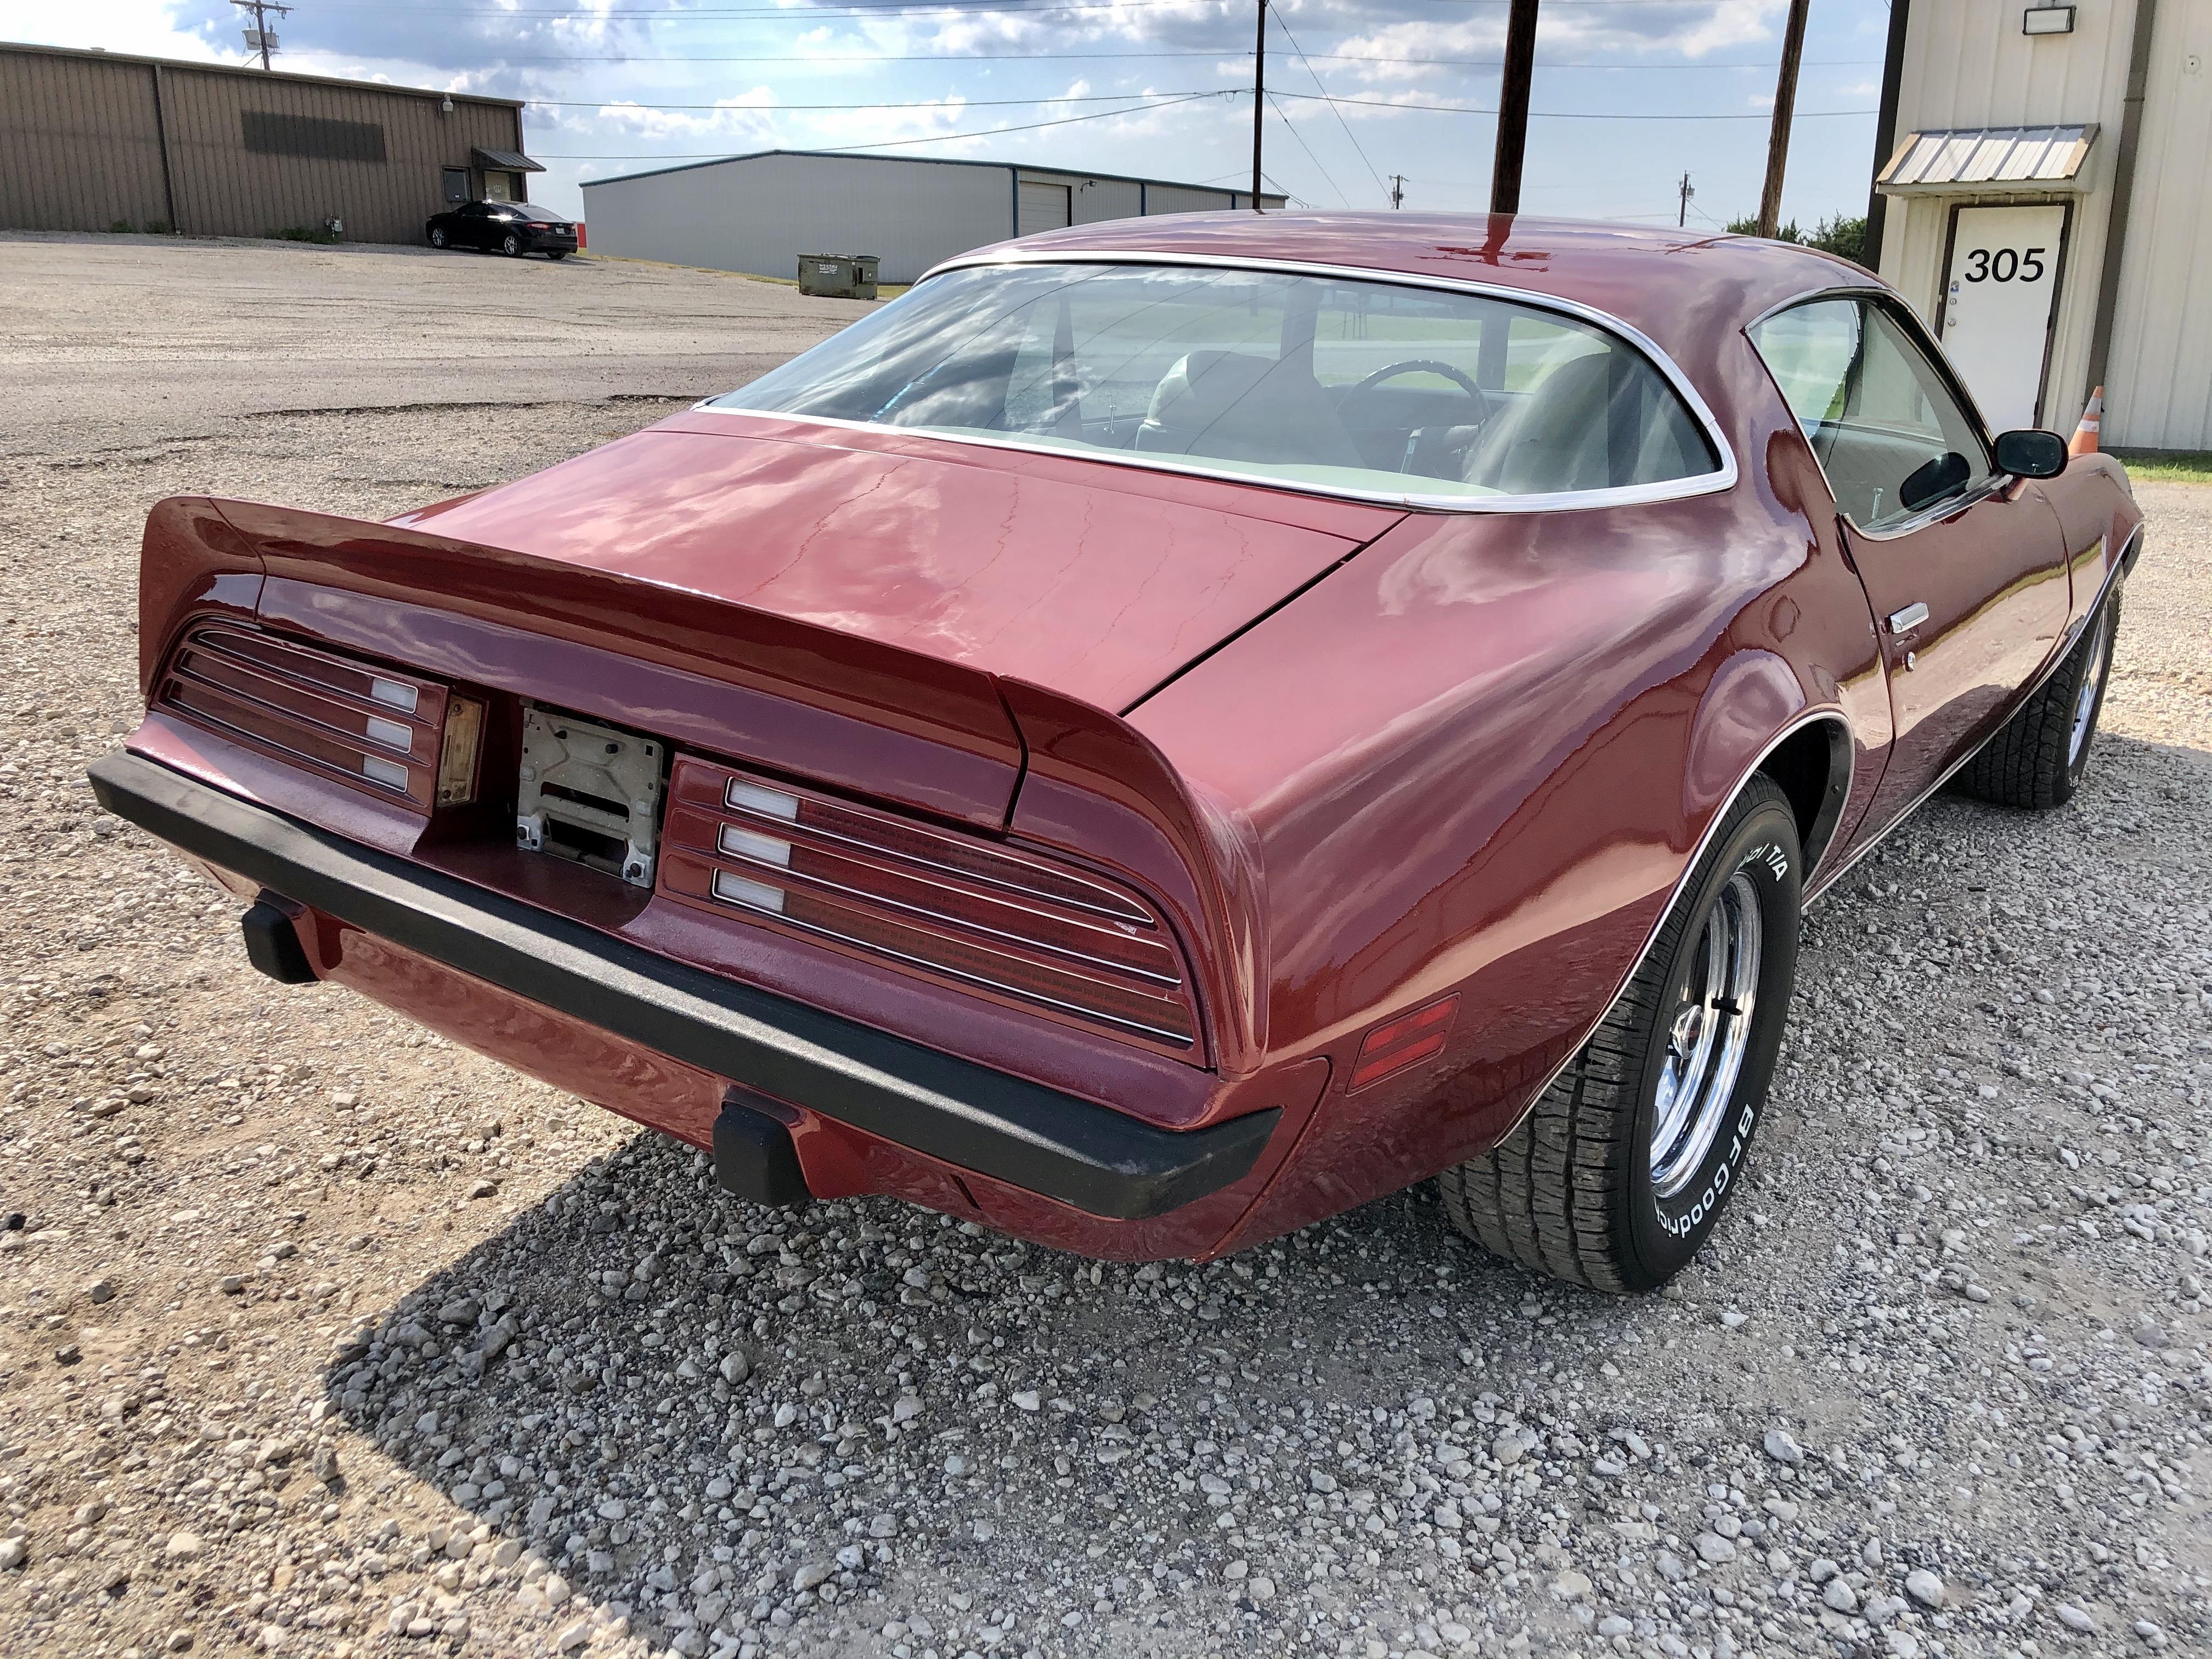
[[[865,155],[754,155],[584,184],[591,250],[792,276],[799,254],[876,254],[911,283],[1013,232],[1013,170]]]

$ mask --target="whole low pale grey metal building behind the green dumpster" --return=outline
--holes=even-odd
[[[1261,204],[1281,208],[1283,197]],[[1250,206],[1248,190],[845,150],[759,150],[584,179],[593,252],[757,276],[790,276],[801,254],[876,254],[885,283],[1033,230]]]

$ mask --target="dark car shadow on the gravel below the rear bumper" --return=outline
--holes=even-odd
[[[964,1582],[1035,1571],[1064,1595],[1075,1562],[1102,1586],[1084,1617],[1113,1606],[1128,1641],[1159,1628],[1175,1652],[1152,1619],[1234,1579],[1285,1504],[1352,1540],[1354,1584],[1380,1577],[1358,1546],[1398,1537],[1400,1471],[1376,1486],[1407,1413],[1436,1420],[1447,1378],[1546,1383],[1555,1321],[1551,1354],[1626,1318],[1480,1256],[1425,1190],[1206,1267],[1099,1265],[894,1199],[750,1206],[648,1133],[341,1334],[325,1387],[460,1511],[387,1526],[425,1584],[387,1584],[374,1628],[460,1635],[484,1604],[456,1593],[507,1584],[555,1644],[615,1626],[677,1652],[836,1648]],[[989,1615],[967,1644],[1011,1635]]]

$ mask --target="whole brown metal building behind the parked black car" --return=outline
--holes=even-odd
[[[0,228],[422,241],[451,201],[524,197],[522,104],[0,42]]]

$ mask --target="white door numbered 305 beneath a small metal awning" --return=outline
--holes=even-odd
[[[2037,425],[2066,208],[1960,208],[1938,332],[1993,431]]]

